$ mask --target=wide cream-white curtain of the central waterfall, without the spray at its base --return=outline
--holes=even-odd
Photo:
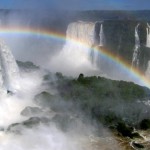
[[[82,21],[71,23],[68,26],[67,41],[63,51],[72,56],[71,59],[75,66],[89,63],[90,48],[94,45],[94,26],[94,23]]]

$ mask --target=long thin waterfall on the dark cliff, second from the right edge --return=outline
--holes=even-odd
[[[138,67],[139,66],[139,54],[140,54],[140,39],[138,35],[138,27],[140,24],[138,24],[135,27],[135,46],[133,50],[133,57],[132,57],[132,67]]]

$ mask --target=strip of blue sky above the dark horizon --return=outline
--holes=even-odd
[[[0,0],[1,9],[144,10],[150,0]]]

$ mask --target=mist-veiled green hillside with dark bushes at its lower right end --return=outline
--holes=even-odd
[[[52,120],[63,131],[75,124],[76,117],[85,119],[84,122],[90,120],[93,125],[96,120],[98,126],[103,124],[117,136],[131,139],[142,139],[134,128],[150,128],[150,109],[145,105],[150,97],[148,88],[84,74],[75,79],[56,73],[53,78],[50,80],[52,75],[49,74],[44,76],[44,81],[49,81],[50,87],[57,88],[58,93],[41,92],[35,96],[35,102],[43,109],[51,108],[58,113]]]

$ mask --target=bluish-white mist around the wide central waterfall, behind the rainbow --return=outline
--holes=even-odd
[[[76,42],[75,37],[72,37],[74,40],[72,44],[68,42],[69,40],[45,37],[39,33],[43,29],[54,30],[64,34],[64,37],[67,38],[68,25],[70,21],[76,21],[77,18],[75,12],[70,12],[69,15],[67,13],[67,16],[66,13],[65,11],[52,11],[51,13],[47,10],[30,10],[28,12],[27,10],[10,10],[7,14],[1,14],[3,16],[2,27],[8,28],[8,31],[9,28],[17,27],[22,32],[24,32],[23,28],[28,28],[29,31],[34,29],[37,34],[2,33],[0,37],[6,41],[16,60],[31,61],[54,73],[62,72],[65,75],[75,77],[84,73],[85,75],[101,75],[111,79],[138,82],[134,77],[131,77],[132,75],[128,75],[128,72],[126,73],[121,66],[101,56],[98,52],[95,57],[99,57],[100,60],[97,61],[100,65],[92,64],[91,45],[87,44],[88,41],[84,41],[82,45],[82,41],[81,43]],[[65,15],[65,19],[62,17],[63,15]],[[116,72],[118,72],[117,75]]]

